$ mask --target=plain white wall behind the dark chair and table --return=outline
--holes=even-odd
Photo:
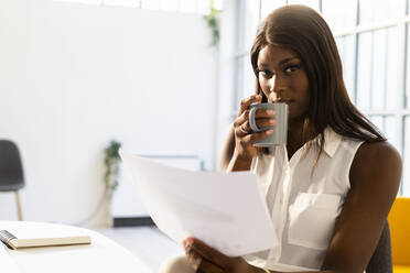
[[[0,1],[0,138],[22,153],[26,220],[73,223],[102,193],[111,138],[215,164],[215,53],[203,18],[48,0]],[[15,219],[0,194],[0,220]]]

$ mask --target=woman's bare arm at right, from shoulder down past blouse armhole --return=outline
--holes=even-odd
[[[387,142],[364,143],[353,161],[352,188],[323,264],[323,270],[362,273],[386,225],[401,179],[401,157]]]

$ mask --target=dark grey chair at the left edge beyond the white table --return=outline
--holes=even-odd
[[[23,166],[19,148],[9,140],[0,140],[0,192],[14,192],[19,220],[23,219],[19,189],[24,187]]]

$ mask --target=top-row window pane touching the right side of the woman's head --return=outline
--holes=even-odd
[[[353,28],[356,24],[357,0],[322,0],[322,13],[332,31]]]

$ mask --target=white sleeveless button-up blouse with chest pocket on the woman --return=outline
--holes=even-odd
[[[249,263],[284,272],[321,269],[350,189],[350,165],[363,143],[331,128],[325,129],[324,136],[324,151],[317,163],[319,138],[311,141],[308,152],[305,144],[290,161],[284,145],[252,160],[251,171],[259,176],[279,245],[246,255]]]

